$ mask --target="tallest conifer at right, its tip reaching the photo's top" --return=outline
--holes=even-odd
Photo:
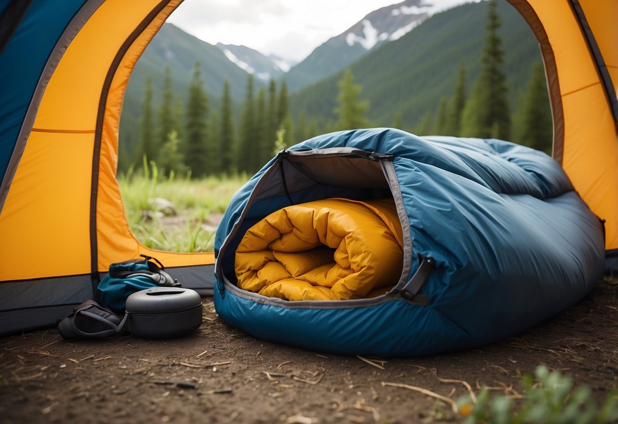
[[[481,63],[483,67],[467,102],[462,135],[508,139],[510,135],[509,104],[506,77],[501,70],[502,40],[497,35],[501,20],[496,0],[490,0],[485,26],[487,35]]]

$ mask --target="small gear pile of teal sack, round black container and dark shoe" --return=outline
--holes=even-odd
[[[98,300],[86,300],[59,320],[62,338],[133,334],[163,339],[197,329],[203,310],[200,295],[180,287],[163,265],[151,260],[161,265],[151,257],[112,263],[97,287]]]

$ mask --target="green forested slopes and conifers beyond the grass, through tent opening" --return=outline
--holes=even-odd
[[[185,36],[179,34],[182,40]],[[142,166],[146,156],[166,171],[193,176],[251,174],[285,146],[358,127],[499,137],[541,150],[551,146],[540,51],[528,25],[505,0],[433,15],[399,40],[292,95],[285,78],[264,85],[226,57],[222,66],[223,53],[208,46],[216,51],[201,47],[213,54],[210,68],[202,64],[197,47],[194,56],[185,56],[164,40],[140,59],[146,62],[135,70],[130,88],[141,85],[143,94],[127,93],[120,171]],[[150,54],[158,62],[151,62]],[[153,68],[156,78],[145,71]],[[179,83],[179,72],[187,82]]]

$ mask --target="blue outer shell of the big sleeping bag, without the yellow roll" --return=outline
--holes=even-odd
[[[279,155],[235,195],[216,234],[214,302],[233,326],[337,354],[436,354],[530,328],[582,299],[603,273],[601,222],[559,164],[540,151],[501,140],[366,129],[311,138],[289,154],[332,148],[393,155],[383,168],[396,173],[391,189],[400,192],[402,225],[411,235],[402,284],[417,270],[417,254],[433,258],[436,268],[420,290],[428,304],[410,302],[399,290],[375,299],[286,302],[236,287],[239,238],[256,219],[289,204],[276,184],[268,185],[286,160]],[[320,189],[323,197],[333,194],[287,180],[295,203],[315,200]]]

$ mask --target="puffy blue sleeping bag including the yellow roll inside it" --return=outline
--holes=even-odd
[[[390,199],[394,210],[375,221],[397,221],[401,249],[365,238],[373,224],[333,213],[332,198]],[[399,247],[394,234],[382,236]],[[321,135],[279,153],[232,199],[215,252],[214,304],[227,323],[271,341],[383,356],[511,336],[580,300],[604,267],[603,225],[549,156],[396,129]],[[386,292],[320,287],[337,281],[331,272],[347,279],[348,262]],[[278,279],[326,293],[294,297],[309,287]]]

